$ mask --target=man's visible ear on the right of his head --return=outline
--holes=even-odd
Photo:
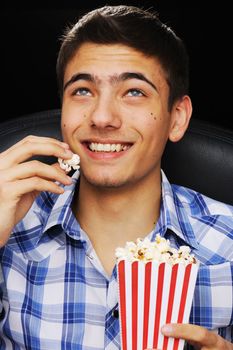
[[[192,102],[188,95],[178,100],[171,111],[171,123],[169,131],[169,140],[172,142],[179,141],[188,128],[192,115]]]

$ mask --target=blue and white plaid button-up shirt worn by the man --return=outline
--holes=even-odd
[[[116,268],[109,278],[72,210],[73,184],[41,193],[0,251],[0,349],[120,349]],[[162,176],[150,234],[189,245],[201,266],[190,322],[233,341],[233,207]]]

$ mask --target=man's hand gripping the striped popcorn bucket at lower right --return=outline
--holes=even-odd
[[[233,350],[233,344],[206,328],[191,324],[167,324],[162,333],[186,340],[198,350]]]

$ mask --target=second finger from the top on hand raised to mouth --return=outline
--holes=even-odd
[[[64,185],[70,185],[72,180],[62,169],[39,162],[38,160],[28,161],[1,172],[1,181],[11,182],[30,177],[41,177],[58,181]]]

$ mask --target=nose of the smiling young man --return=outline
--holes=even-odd
[[[90,116],[91,126],[98,129],[118,129],[121,126],[119,108],[111,96],[99,96]]]

